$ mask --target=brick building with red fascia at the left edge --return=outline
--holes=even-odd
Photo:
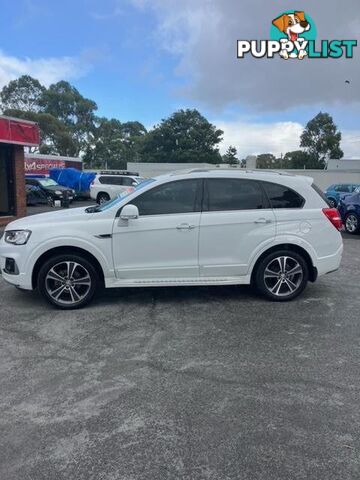
[[[36,123],[0,116],[0,225],[26,215],[24,147],[38,147]]]

